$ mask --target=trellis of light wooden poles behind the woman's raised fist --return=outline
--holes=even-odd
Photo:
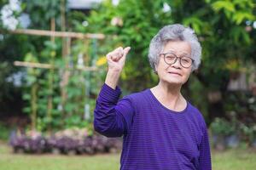
[[[50,26],[51,30],[50,31],[45,31],[45,30],[32,30],[32,29],[17,29],[15,31],[9,31],[11,34],[25,34],[25,35],[31,35],[31,36],[45,36],[45,37],[50,37],[51,42],[55,42],[55,37],[61,37],[62,38],[62,58],[64,59],[68,54],[70,54],[70,46],[71,46],[71,39],[76,38],[76,39],[104,39],[105,36],[103,34],[84,34],[80,32],[71,32],[71,31],[65,31],[65,18],[61,20],[61,30],[62,31],[55,31],[55,19],[51,20]],[[85,44],[86,45],[86,44]],[[89,60],[89,59],[87,59]],[[16,66],[25,66],[25,67],[30,67],[30,68],[41,68],[41,69],[49,69],[50,71],[54,71],[56,68],[55,65],[52,64],[45,64],[45,63],[33,63],[33,62],[25,62],[25,61],[15,61],[14,65]],[[97,71],[96,66],[76,66],[70,68],[68,64],[65,65],[65,70],[63,72],[62,78],[61,78],[61,105],[65,105],[66,99],[67,99],[67,94],[65,92],[65,86],[67,86],[68,82],[68,77],[69,77],[69,70],[70,69],[78,69],[81,71]],[[52,85],[53,85],[53,80],[50,80],[51,86],[49,87],[49,90],[53,90]],[[88,85],[88,83],[87,83]],[[89,83],[90,85],[90,83]],[[88,87],[87,87],[88,88]],[[89,87],[90,88],[90,87]],[[35,94],[34,90],[37,89],[36,87],[32,88],[32,94]],[[86,91],[88,91],[87,89]],[[48,97],[48,106],[47,106],[47,116],[50,118],[51,117],[51,110],[53,108],[52,99],[53,96]],[[89,93],[87,92],[86,94],[87,99],[89,99]],[[37,117],[37,106],[36,102],[32,103],[32,130],[36,129],[36,117]],[[86,105],[85,105],[86,108]],[[87,110],[88,105],[87,105]],[[89,114],[89,113],[87,113]],[[50,130],[50,129],[49,129]]]

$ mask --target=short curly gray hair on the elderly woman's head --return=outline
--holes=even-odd
[[[152,38],[149,50],[148,59],[151,67],[155,71],[155,65],[159,63],[159,55],[169,41],[185,41],[189,42],[191,46],[191,58],[194,59],[192,65],[192,71],[198,69],[201,63],[201,44],[198,41],[195,31],[189,27],[184,27],[180,24],[164,26],[160,31]]]

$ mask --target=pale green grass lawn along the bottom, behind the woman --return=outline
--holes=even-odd
[[[119,154],[97,156],[55,156],[12,154],[0,143],[0,169],[2,170],[118,170]],[[256,151],[212,151],[213,170],[254,170]]]

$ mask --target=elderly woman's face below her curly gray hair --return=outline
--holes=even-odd
[[[169,53],[171,55],[169,55]],[[166,54],[166,61],[170,58],[172,60],[173,56],[177,56],[177,60],[173,64],[167,64],[165,61],[164,54]],[[174,54],[174,55],[173,55]],[[185,57],[191,57],[191,47],[189,42],[184,41],[170,41],[166,43],[162,53],[160,54],[159,64],[156,66],[157,74],[160,78],[160,82],[167,82],[170,84],[183,85],[189,79],[189,75],[191,72],[190,65],[188,68],[184,68],[183,65],[186,66],[186,60],[183,60],[183,65],[180,64],[180,58],[188,59]],[[167,58],[169,57],[169,58]],[[191,58],[190,58],[191,59]]]

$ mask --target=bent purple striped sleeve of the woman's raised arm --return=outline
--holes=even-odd
[[[128,133],[134,114],[131,99],[125,97],[119,100],[119,87],[110,88],[103,84],[96,99],[94,111],[94,128],[96,132],[107,137],[120,137]]]

